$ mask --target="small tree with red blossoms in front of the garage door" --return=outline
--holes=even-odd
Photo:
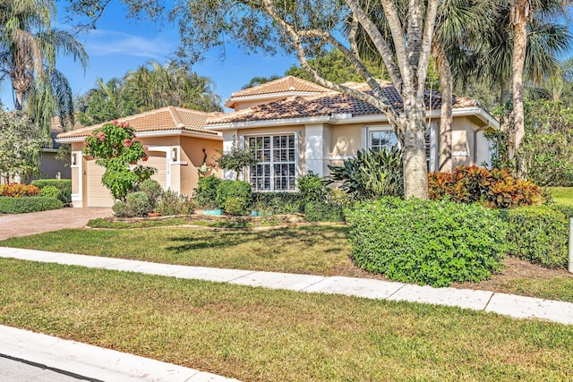
[[[115,199],[122,201],[157,171],[152,167],[137,166],[138,161],[147,161],[148,155],[141,141],[134,139],[134,130],[128,123],[114,121],[91,132],[83,149],[84,154],[95,157],[96,163],[106,168],[101,183]]]

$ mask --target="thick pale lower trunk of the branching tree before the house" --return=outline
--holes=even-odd
[[[406,93],[406,91],[405,91]],[[411,91],[404,98],[404,118],[400,126],[404,133],[402,166],[404,169],[404,196],[428,199],[428,171],[426,166],[425,130],[423,104]]]

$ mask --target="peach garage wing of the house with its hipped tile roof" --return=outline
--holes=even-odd
[[[221,133],[203,129],[207,119],[217,115],[167,106],[117,121],[129,123],[137,139],[148,147],[149,160],[141,164],[158,170],[152,179],[165,190],[191,194],[202,174],[218,174],[211,162],[222,149]],[[81,152],[83,140],[101,125],[57,136],[58,142],[72,144],[73,207],[111,207],[114,204],[111,192],[101,183],[105,169]]]

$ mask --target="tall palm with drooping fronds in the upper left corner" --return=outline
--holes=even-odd
[[[56,109],[73,116],[72,92],[56,70],[56,56],[72,55],[85,69],[88,55],[71,33],[51,27],[53,0],[3,2],[1,10],[0,72],[12,82],[15,109],[25,108],[48,132]]]

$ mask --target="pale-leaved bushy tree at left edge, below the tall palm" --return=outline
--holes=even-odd
[[[46,140],[26,115],[0,111],[0,174],[6,183],[13,175],[25,179],[38,173],[44,143]]]

